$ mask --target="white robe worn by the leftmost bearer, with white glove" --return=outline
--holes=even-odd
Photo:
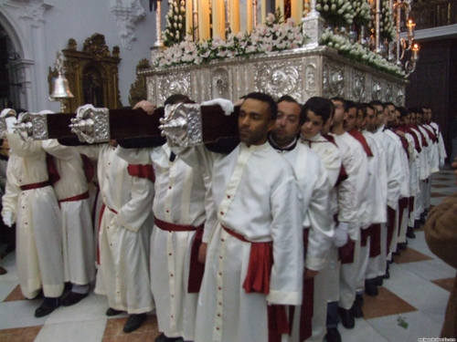
[[[16,264],[21,291],[33,298],[58,297],[64,288],[60,211],[51,186],[21,191],[21,185],[48,181],[46,152],[41,141],[23,141],[7,134],[11,156],[7,166],[3,210],[16,219]]]

